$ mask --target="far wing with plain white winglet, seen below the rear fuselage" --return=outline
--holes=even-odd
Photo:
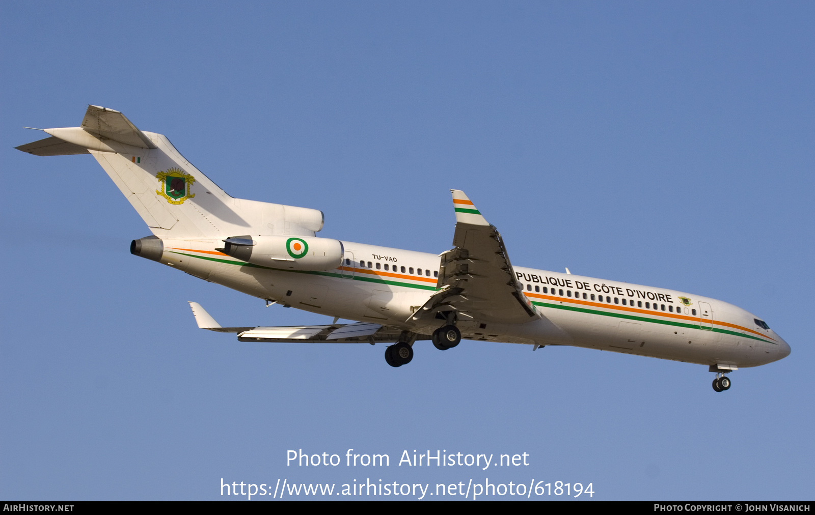
[[[290,343],[369,343],[371,345],[399,341],[402,331],[380,324],[291,325],[284,327],[222,328],[198,302],[190,302],[192,315],[201,329],[216,332],[237,332],[238,341],[271,341]],[[418,335],[417,340],[429,340]]]

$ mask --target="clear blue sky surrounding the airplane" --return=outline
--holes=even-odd
[[[486,477],[811,499],[813,21],[809,2],[3,2],[0,496]],[[322,209],[321,235],[440,253],[462,189],[514,264],[732,302],[792,354],[716,394],[702,366],[595,350],[425,342],[394,369],[381,346],[200,331],[187,301],[224,325],[328,319],[131,256],[148,228],[90,156],[13,149],[88,103],[232,196]],[[300,448],[394,461],[287,467]],[[406,449],[531,464],[408,469]]]

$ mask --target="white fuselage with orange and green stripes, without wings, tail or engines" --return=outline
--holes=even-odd
[[[443,325],[411,322],[437,290],[435,254],[342,242],[342,266],[286,271],[214,249],[220,240],[165,240],[161,262],[284,306],[430,335]],[[757,317],[727,302],[664,288],[513,266],[541,318],[526,324],[459,319],[477,341],[566,345],[688,363],[755,367],[790,354]],[[438,324],[436,323],[438,322]]]

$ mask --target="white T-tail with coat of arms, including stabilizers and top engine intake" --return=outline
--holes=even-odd
[[[39,156],[90,153],[161,238],[314,235],[323,227],[317,209],[227,195],[169,139],[139,130],[121,112],[91,105],[81,127],[45,131],[52,137],[17,148]]]

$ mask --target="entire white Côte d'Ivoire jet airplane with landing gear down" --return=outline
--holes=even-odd
[[[27,127],[29,128],[29,127]],[[162,134],[90,105],[79,127],[16,147],[35,156],[90,154],[152,235],[130,253],[258,297],[333,316],[333,324],[221,327],[190,302],[199,328],[239,341],[377,343],[385,362],[413,359],[416,341],[462,339],[578,346],[706,365],[725,374],[785,358],[790,346],[756,315],[691,293],[513,266],[496,227],[451,190],[456,227],[440,254],[318,237],[318,209],[227,195]],[[337,320],[355,320],[337,324]]]

